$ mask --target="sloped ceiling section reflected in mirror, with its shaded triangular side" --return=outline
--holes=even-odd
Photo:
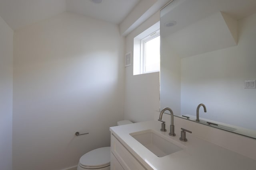
[[[237,20],[216,12],[165,38],[170,49],[185,58],[236,46],[237,26]]]

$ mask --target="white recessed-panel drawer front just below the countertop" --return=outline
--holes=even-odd
[[[111,152],[118,162],[120,162],[124,170],[146,170],[114,135],[111,136]]]

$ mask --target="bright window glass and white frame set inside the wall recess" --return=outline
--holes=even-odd
[[[140,73],[160,70],[160,32],[159,30],[141,40]]]

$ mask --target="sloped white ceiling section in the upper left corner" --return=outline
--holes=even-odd
[[[66,11],[66,0],[0,0],[0,16],[13,29]]]

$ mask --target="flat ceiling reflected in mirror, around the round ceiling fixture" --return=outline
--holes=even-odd
[[[256,0],[175,0],[161,11],[161,35],[174,33],[219,11],[240,20],[256,12]],[[177,24],[165,27],[169,21]]]

